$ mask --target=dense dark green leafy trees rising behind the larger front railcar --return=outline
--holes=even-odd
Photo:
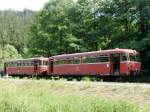
[[[149,68],[149,29],[149,0],[50,0],[34,19],[30,50],[50,56],[132,48]]]

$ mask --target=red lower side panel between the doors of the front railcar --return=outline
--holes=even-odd
[[[60,75],[109,75],[111,72],[110,63],[87,63],[87,64],[66,64],[54,65],[53,74]]]

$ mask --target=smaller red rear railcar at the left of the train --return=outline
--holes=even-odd
[[[48,58],[14,59],[4,63],[4,72],[8,75],[45,75],[48,70]]]

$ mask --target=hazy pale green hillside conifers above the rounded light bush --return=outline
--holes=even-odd
[[[32,23],[33,12],[4,10],[0,11],[0,45],[6,44],[15,46],[22,53],[27,47],[28,32]]]

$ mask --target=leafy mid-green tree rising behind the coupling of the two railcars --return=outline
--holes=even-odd
[[[51,56],[79,49],[79,40],[72,35],[68,10],[72,0],[52,0],[34,19],[30,33],[30,51],[35,55]]]

